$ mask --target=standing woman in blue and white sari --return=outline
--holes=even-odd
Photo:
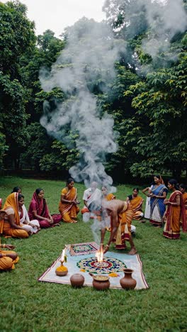
[[[160,175],[154,175],[154,184],[152,186],[152,191],[150,192],[150,223],[152,225],[161,227],[164,212],[166,211],[166,205],[164,204],[164,199],[168,189],[164,185],[164,181]]]

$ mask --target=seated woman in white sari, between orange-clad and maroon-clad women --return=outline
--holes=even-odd
[[[18,192],[19,194],[21,194],[21,187],[14,187],[12,192]],[[26,206],[24,205],[24,197],[21,198],[19,203],[21,204],[19,216],[20,216],[21,226],[23,227],[23,229],[26,229],[26,231],[27,230],[30,231],[31,234],[40,231],[40,223],[38,223],[38,220],[35,219],[32,222],[30,222],[28,211],[26,209]]]

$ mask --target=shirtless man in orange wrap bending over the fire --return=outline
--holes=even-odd
[[[104,253],[108,251],[111,242],[115,239],[116,249],[125,249],[125,240],[130,242],[129,255],[135,255],[137,250],[132,241],[130,233],[131,221],[133,216],[132,206],[126,201],[120,201],[120,199],[114,199],[113,201],[102,201],[102,211],[108,216],[111,216],[111,236],[108,240],[108,244],[104,249]],[[101,228],[101,246],[105,238],[106,228]]]

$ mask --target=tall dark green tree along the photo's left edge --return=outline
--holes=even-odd
[[[26,104],[30,96],[22,75],[22,59],[35,48],[34,23],[28,20],[26,11],[26,6],[19,1],[0,3],[1,123],[16,167],[26,145]]]

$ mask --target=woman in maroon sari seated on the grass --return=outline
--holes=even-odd
[[[35,189],[28,209],[28,216],[31,223],[36,219],[41,228],[60,226],[59,218],[52,218],[50,215],[42,188]]]

